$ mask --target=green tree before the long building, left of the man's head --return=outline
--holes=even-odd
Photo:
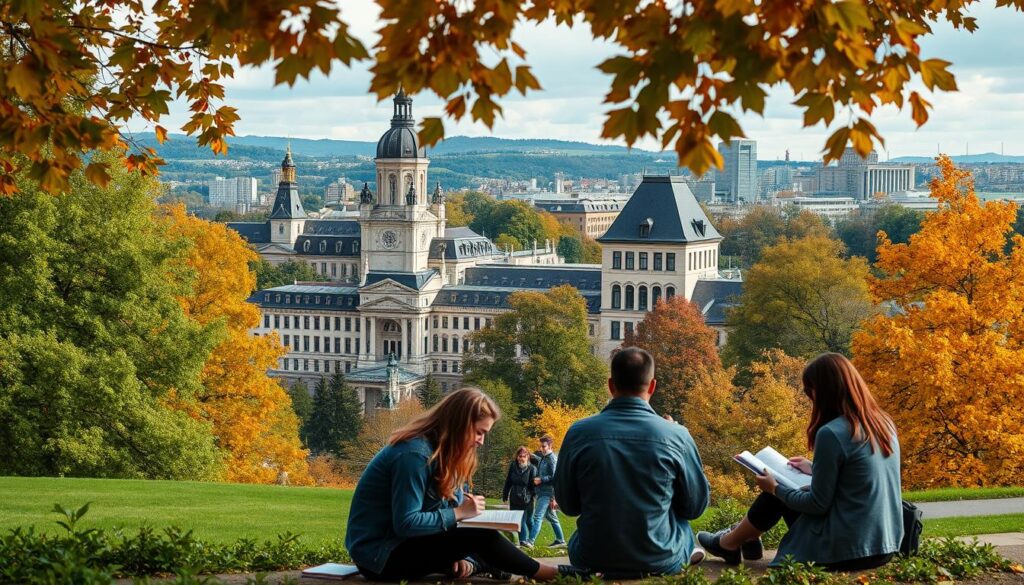
[[[573,287],[516,292],[511,310],[469,336],[465,377],[502,381],[522,417],[536,412],[535,396],[569,406],[596,407],[607,394],[608,368],[591,353],[587,304]],[[482,351],[474,351],[482,343]]]

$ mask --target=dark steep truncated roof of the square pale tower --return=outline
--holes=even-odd
[[[618,217],[597,241],[685,244],[721,239],[684,177],[646,175]]]

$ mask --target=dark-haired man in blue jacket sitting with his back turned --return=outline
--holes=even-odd
[[[605,578],[672,575],[689,562],[688,520],[708,507],[710,488],[686,427],[649,401],[654,360],[627,347],[611,360],[611,401],[571,427],[555,472],[562,512],[579,515],[569,539],[574,567]]]

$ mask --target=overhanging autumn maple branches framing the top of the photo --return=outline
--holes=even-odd
[[[502,97],[541,88],[512,36],[547,20],[586,26],[615,46],[617,54],[598,66],[611,77],[606,138],[659,139],[701,174],[722,164],[714,139],[742,136],[737,116],[763,114],[769,89],[784,87],[805,126],[836,123],[826,161],[847,144],[866,156],[882,140],[869,122],[877,108],[908,108],[921,125],[931,105],[919,83],[932,92],[956,89],[951,64],[924,58],[919,41],[939,19],[975,31],[969,13],[976,3],[377,0],[381,26],[371,50],[349,28],[347,7],[318,0],[7,2],[0,8],[0,192],[16,189],[10,173],[23,163],[15,153],[44,189],[59,191],[86,163],[83,151],[124,141],[124,122],[141,118],[166,137],[159,123],[177,97],[191,111],[181,129],[225,152],[239,116],[224,103],[224,81],[236,66],[272,64],[274,83],[293,84],[314,69],[369,60],[369,89],[378,97],[399,87],[429,91],[444,99],[445,118],[492,126]],[[997,4],[1024,9],[1024,0]],[[425,119],[420,135],[427,144],[443,137],[441,119]],[[139,150],[129,163],[154,171],[159,161]],[[87,165],[92,180],[108,180],[109,164]]]

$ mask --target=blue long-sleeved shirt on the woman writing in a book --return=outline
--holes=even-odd
[[[454,501],[438,495],[432,452],[422,437],[389,445],[362,472],[345,533],[345,548],[357,566],[380,573],[403,540],[455,528],[462,490]]]

